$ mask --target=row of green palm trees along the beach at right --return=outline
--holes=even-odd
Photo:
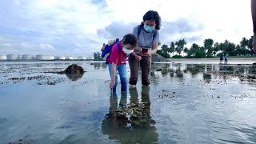
[[[161,42],[159,42],[158,46],[161,46],[161,50],[158,50],[157,53],[164,58],[213,58],[219,56],[219,54],[249,56],[254,54],[252,41],[253,36],[251,36],[250,39],[242,38],[238,45],[228,40],[221,43],[214,43],[212,38],[208,38],[204,40],[203,46],[193,43],[189,49],[186,47],[186,40],[181,39],[178,40],[178,42],[170,42],[169,45],[162,45]]]

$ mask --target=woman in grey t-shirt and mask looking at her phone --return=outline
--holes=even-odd
[[[143,16],[143,22],[135,26],[133,33],[138,38],[137,47],[130,54],[130,88],[135,88],[138,81],[138,69],[142,70],[142,85],[150,85],[151,55],[158,50],[161,18],[157,11],[149,10]]]

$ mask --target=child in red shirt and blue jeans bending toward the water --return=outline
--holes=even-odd
[[[126,57],[133,52],[136,45],[137,38],[133,34],[126,34],[120,42],[114,43],[112,46],[108,59],[111,92],[116,92],[118,85],[117,71],[121,80],[121,91],[127,90]]]

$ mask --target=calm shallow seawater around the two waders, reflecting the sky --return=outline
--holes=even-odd
[[[46,73],[73,63],[86,73]],[[255,143],[255,75],[154,63],[150,86],[110,94],[102,62],[0,62],[0,143]]]

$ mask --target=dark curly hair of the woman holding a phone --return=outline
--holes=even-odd
[[[155,29],[160,30],[161,17],[159,16],[157,11],[154,11],[154,10],[147,11],[146,14],[144,14],[144,16],[143,16],[143,22],[141,23],[141,26],[144,26],[144,22],[146,20],[154,20],[154,22],[156,24]]]

